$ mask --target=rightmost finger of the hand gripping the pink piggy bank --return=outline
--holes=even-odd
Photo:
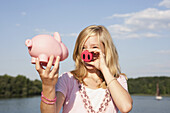
[[[59,63],[60,63],[60,57],[57,56],[57,57],[56,57],[56,61],[55,61],[55,65],[54,65],[54,67],[53,67],[53,69],[52,69],[50,75],[55,76],[56,73],[58,73],[58,70],[59,70]]]

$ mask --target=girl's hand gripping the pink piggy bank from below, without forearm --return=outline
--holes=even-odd
[[[57,56],[55,65],[51,69],[53,60],[54,60],[54,56],[50,56],[46,69],[42,67],[42,65],[39,62],[39,59],[36,60],[36,70],[38,71],[41,77],[42,86],[54,87],[58,81],[60,57]]]

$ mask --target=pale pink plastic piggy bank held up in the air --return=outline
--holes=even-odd
[[[25,45],[28,47],[29,54],[32,57],[32,64],[35,64],[36,58],[39,58],[40,63],[46,66],[51,55],[55,56],[53,65],[56,56],[60,56],[60,61],[68,57],[68,49],[61,42],[61,37],[58,32],[54,33],[54,37],[51,35],[37,35],[32,39],[27,39]]]

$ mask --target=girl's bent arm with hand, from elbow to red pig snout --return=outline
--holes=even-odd
[[[93,51],[99,52],[100,56],[94,62],[89,64],[94,65],[100,70],[105,78],[106,83],[109,85],[109,91],[111,93],[114,103],[122,113],[127,113],[132,109],[133,100],[130,94],[120,85],[116,78],[110,73],[109,68],[106,66],[105,55],[100,49],[94,49]],[[115,79],[115,80],[113,80]]]

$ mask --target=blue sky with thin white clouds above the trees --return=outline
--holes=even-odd
[[[60,74],[74,69],[78,34],[104,25],[128,78],[170,76],[170,0],[0,0],[0,75],[40,79],[26,39],[59,32],[69,56]]]

